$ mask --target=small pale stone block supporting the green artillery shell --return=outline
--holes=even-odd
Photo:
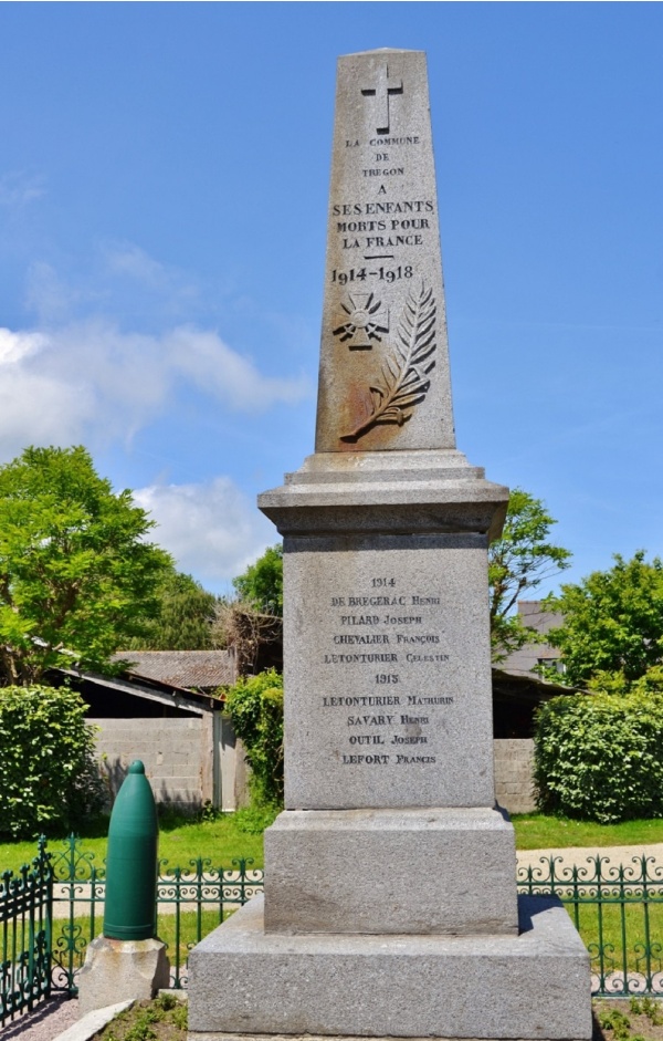
[[[78,983],[81,1016],[134,998],[154,998],[170,982],[166,945],[158,939],[113,940],[97,936],[90,944]]]

